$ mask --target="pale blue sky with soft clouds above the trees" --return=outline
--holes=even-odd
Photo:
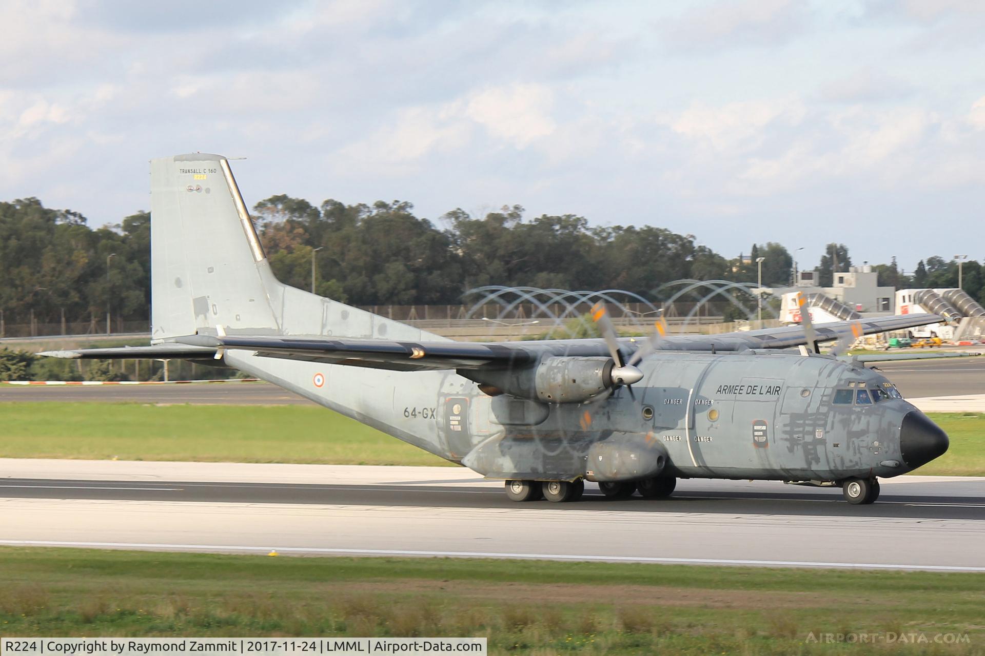
[[[979,0],[0,0],[0,200],[118,223],[202,151],[248,205],[982,260],[983,33]]]

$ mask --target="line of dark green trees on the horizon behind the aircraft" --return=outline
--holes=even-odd
[[[354,305],[434,305],[463,302],[486,284],[562,289],[624,289],[655,297],[681,278],[786,285],[794,261],[782,245],[752,246],[727,258],[693,235],[654,226],[591,226],[583,216],[526,217],[520,206],[482,215],[453,209],[435,222],[410,203],[345,205],[272,196],[253,208],[270,263],[285,283]],[[150,213],[92,228],[81,213],[49,209],[34,198],[0,203],[0,313],[8,324],[99,320],[146,321],[150,315]],[[848,249],[831,244],[818,270],[821,285],[851,266]],[[957,265],[940,257],[910,273],[893,260],[877,265],[880,283],[896,287],[957,286]],[[965,262],[962,286],[982,299],[981,266]],[[985,300],[985,299],[982,299]]]

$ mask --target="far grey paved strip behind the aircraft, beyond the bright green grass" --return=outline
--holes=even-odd
[[[886,362],[879,365],[879,370],[908,398],[985,394],[985,358]],[[4,401],[314,405],[293,392],[269,383],[0,386],[0,402]]]

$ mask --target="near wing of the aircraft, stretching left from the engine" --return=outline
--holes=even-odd
[[[488,365],[524,365],[536,359],[533,350],[516,344],[462,341],[384,341],[381,339],[193,335],[181,341],[210,347],[213,352],[242,349],[264,357],[329,364],[425,371],[477,369]]]

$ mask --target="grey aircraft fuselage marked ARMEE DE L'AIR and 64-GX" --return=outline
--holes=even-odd
[[[636,401],[627,388],[617,388],[594,403],[490,396],[453,371],[382,372],[244,351],[230,351],[226,359],[503,479],[889,477],[923,464],[903,458],[904,417],[916,413],[929,422],[902,398],[834,403],[838,389],[854,395],[891,386],[864,366],[790,352],[657,352],[639,365],[645,377],[633,386]]]

